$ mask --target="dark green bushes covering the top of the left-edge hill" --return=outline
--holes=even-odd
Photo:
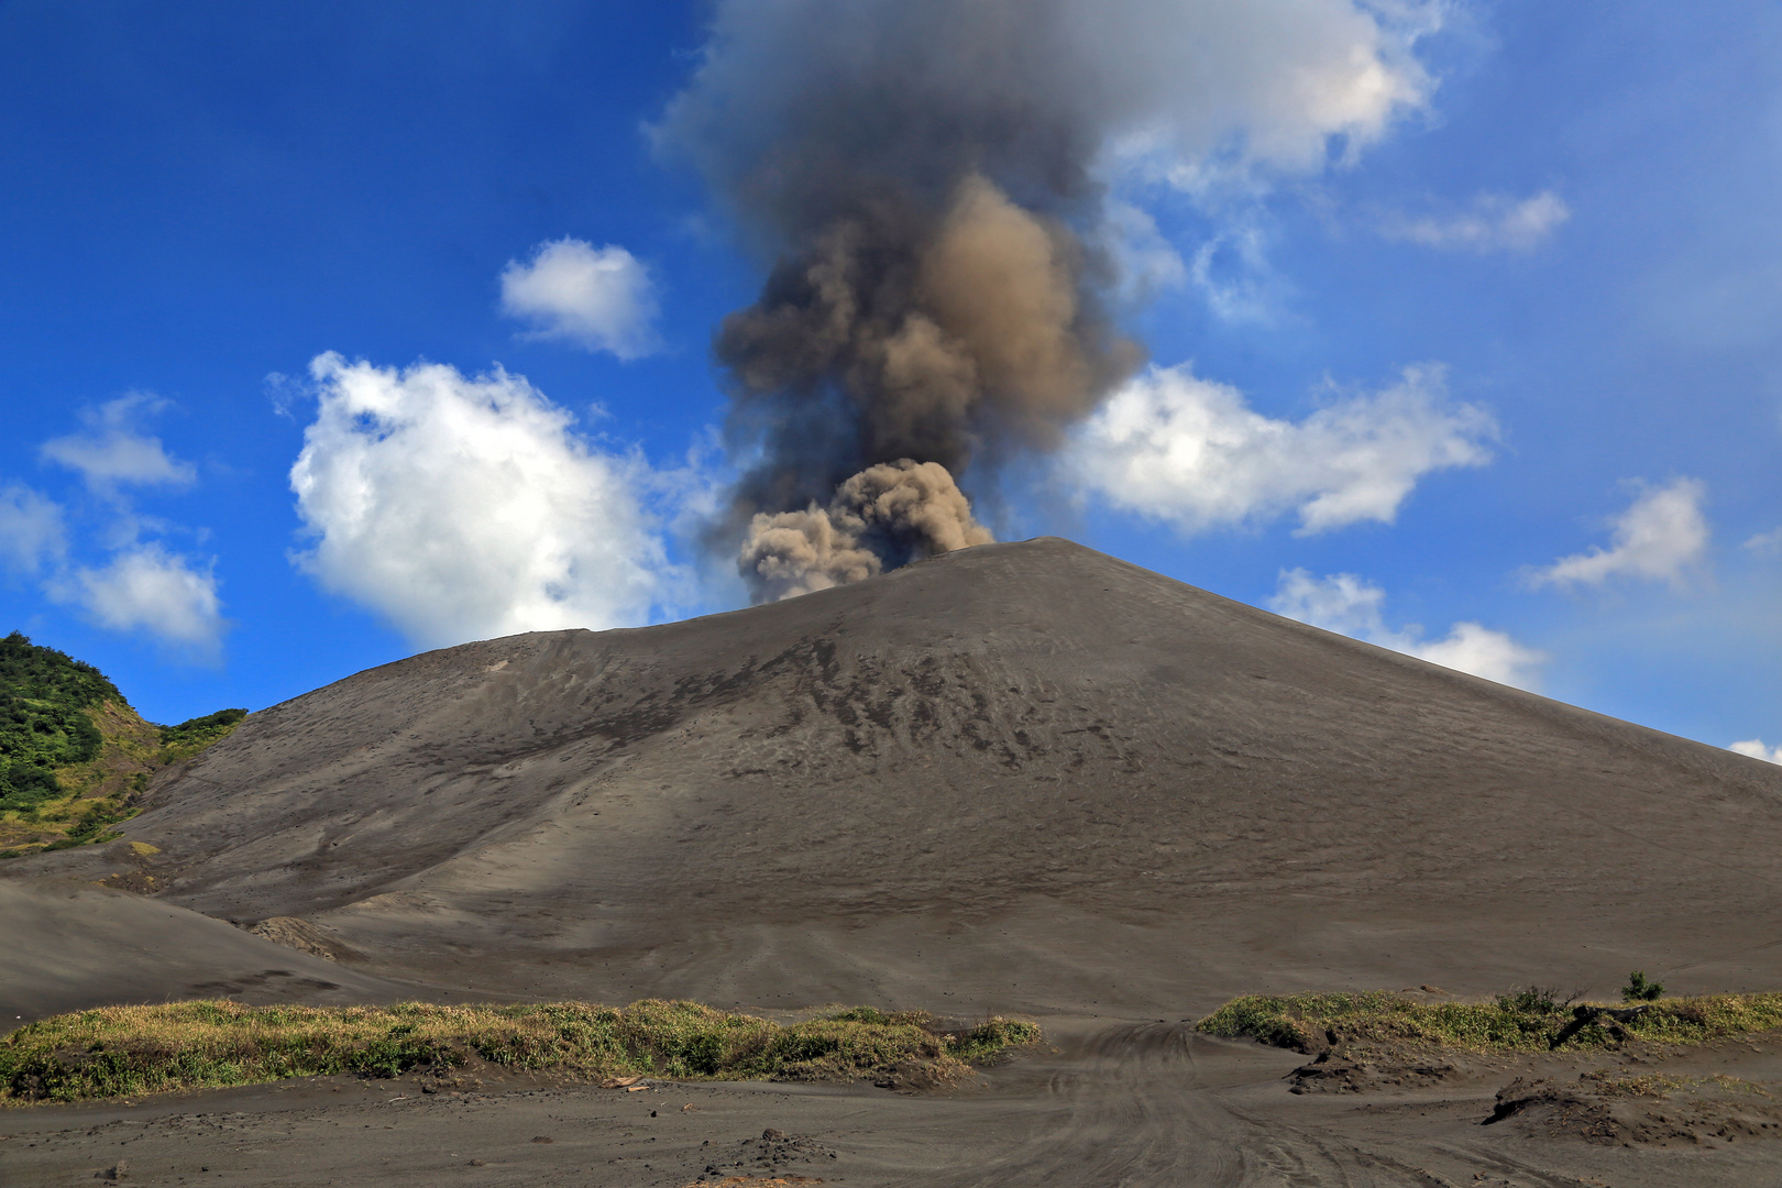
[[[16,631],[0,639],[0,810],[64,794],[57,769],[98,759],[103,737],[86,711],[103,702],[125,705],[98,668]]]

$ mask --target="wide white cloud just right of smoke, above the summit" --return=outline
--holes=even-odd
[[[1297,511],[1308,534],[1390,524],[1422,476],[1490,461],[1493,435],[1488,413],[1447,403],[1438,367],[1299,422],[1187,365],[1153,367],[1080,429],[1062,465],[1116,508],[1183,531]]]

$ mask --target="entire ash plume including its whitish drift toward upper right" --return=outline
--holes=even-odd
[[[957,547],[830,509],[884,463],[957,492],[1053,451],[1142,363],[1101,299],[1117,146],[1203,178],[1322,160],[1417,94],[1390,43],[1358,0],[720,0],[656,137],[772,262],[715,342],[756,460],[718,536],[756,597]]]

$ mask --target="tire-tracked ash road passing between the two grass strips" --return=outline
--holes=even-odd
[[[1221,1056],[1198,1062],[1196,1051]],[[1037,1070],[1037,1069],[1035,1069]],[[1019,1149],[962,1170],[959,1188],[1435,1188],[1445,1181],[1335,1136],[1224,1101],[1256,1085],[1187,1024],[1126,1024],[1062,1054]],[[930,1181],[934,1183],[934,1181]]]

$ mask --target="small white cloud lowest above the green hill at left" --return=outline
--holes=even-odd
[[[157,543],[119,552],[98,570],[78,568],[55,584],[61,600],[78,602],[100,627],[146,631],[162,643],[214,654],[223,641],[216,574]]]

